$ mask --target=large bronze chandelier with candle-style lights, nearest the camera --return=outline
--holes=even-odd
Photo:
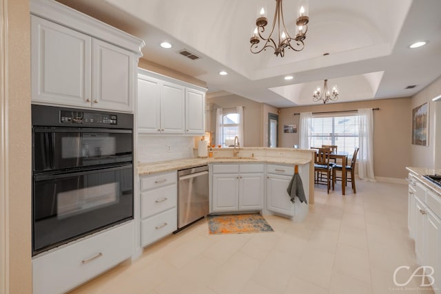
[[[272,48],[274,50],[274,54],[280,57],[285,55],[285,48],[292,49],[294,51],[302,51],[305,47],[303,41],[306,38],[306,32],[308,30],[307,23],[309,21],[308,17],[308,6],[307,0],[300,0],[299,9],[297,12],[296,19],[296,36],[295,38],[291,38],[287,29],[285,28],[285,21],[283,20],[283,0],[276,0],[276,12],[274,12],[274,20],[271,28],[271,32],[269,32],[269,36],[265,38],[262,34],[265,32],[265,25],[268,23],[268,19],[266,17],[266,11],[264,8],[261,8],[256,19],[256,28],[254,28],[254,32],[252,37],[249,39],[249,43],[251,43],[251,47],[249,50],[254,53],[260,53],[267,48]],[[277,28],[276,32],[274,32],[274,28]],[[274,41],[272,34],[273,32],[277,34],[277,43]],[[263,46],[259,48],[258,43],[260,40],[265,41]]]

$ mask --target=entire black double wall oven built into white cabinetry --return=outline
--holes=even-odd
[[[133,218],[133,115],[32,105],[32,255]]]

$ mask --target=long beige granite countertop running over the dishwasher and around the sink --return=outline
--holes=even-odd
[[[213,162],[266,162],[276,163],[283,165],[305,165],[311,160],[302,158],[287,158],[287,157],[271,157],[271,156],[258,156],[258,157],[239,157],[239,158],[186,158],[177,160],[167,160],[161,162],[140,162],[138,165],[139,176],[147,176],[151,174],[159,174],[165,171],[176,171],[178,169],[188,169],[190,167],[198,167],[201,165],[207,165]]]

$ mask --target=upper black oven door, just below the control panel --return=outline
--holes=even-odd
[[[34,172],[132,163],[132,130],[34,127]]]

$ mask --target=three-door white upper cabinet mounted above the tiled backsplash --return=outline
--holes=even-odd
[[[138,70],[138,132],[140,134],[191,134],[205,132],[203,88]]]

